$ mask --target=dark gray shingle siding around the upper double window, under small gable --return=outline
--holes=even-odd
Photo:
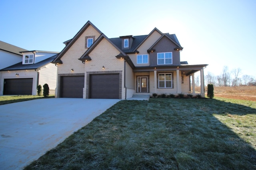
[[[150,53],[150,66],[157,65],[157,53],[172,52],[172,64],[160,65],[160,66],[172,66],[180,65],[180,51],[175,51],[176,45],[168,38],[163,37],[154,47],[156,51]]]

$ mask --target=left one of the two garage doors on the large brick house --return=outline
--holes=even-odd
[[[84,76],[62,76],[60,97],[83,98]]]

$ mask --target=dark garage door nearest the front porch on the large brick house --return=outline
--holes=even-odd
[[[90,98],[119,99],[119,74],[92,74],[90,82]]]

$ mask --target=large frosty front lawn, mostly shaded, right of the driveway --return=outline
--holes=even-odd
[[[122,100],[25,169],[256,169],[256,102]]]

